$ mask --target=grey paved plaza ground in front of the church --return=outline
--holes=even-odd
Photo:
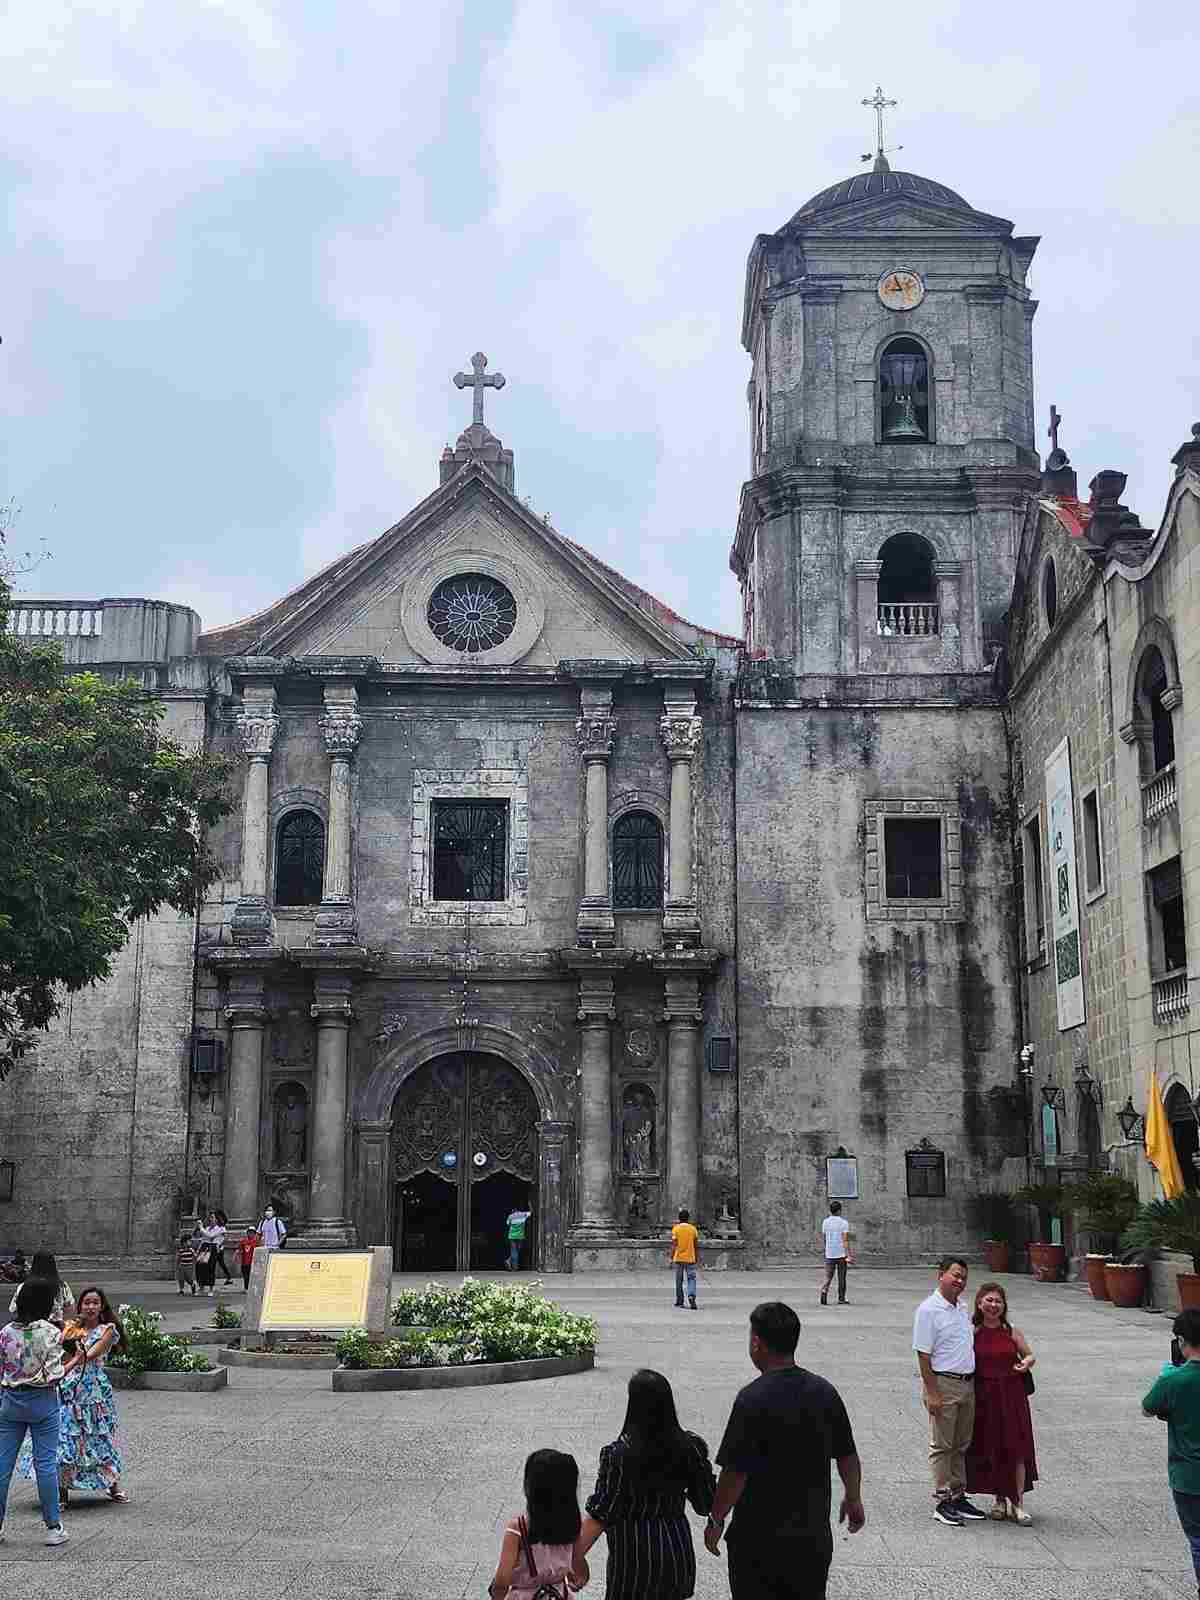
[[[1166,1488],[1165,1429],[1138,1405],[1166,1355],[1166,1318],[1098,1306],[1074,1286],[1006,1280],[1013,1315],[1038,1354],[1035,1525],[957,1530],[930,1514],[909,1347],[912,1309],[931,1278],[856,1270],[853,1302],[826,1310],[816,1282],[816,1269],[714,1274],[701,1280],[693,1314],[674,1309],[666,1270],[547,1277],[554,1299],[600,1322],[595,1371],[549,1382],[334,1395],[328,1373],[232,1370],[216,1395],[120,1394],[131,1502],[78,1496],[70,1542],[50,1550],[34,1488],[14,1480],[0,1592],[482,1597],[504,1520],[520,1504],[528,1451],[573,1451],[586,1494],[600,1446],[619,1432],[637,1366],[670,1378],[685,1427],[715,1450],[734,1390],[754,1376],[747,1314],[760,1299],[787,1299],[803,1322],[798,1360],[838,1386],[862,1456],[867,1528],[835,1538],[834,1600],[1195,1595]],[[118,1288],[123,1299],[166,1309],[171,1328],[202,1320],[200,1301],[182,1306],[162,1283]],[[696,1522],[696,1594],[728,1595],[725,1563],[704,1554],[699,1531]],[[603,1595],[603,1544],[592,1573],[586,1592]]]

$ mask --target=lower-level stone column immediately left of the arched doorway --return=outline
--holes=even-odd
[[[302,1240],[309,1246],[354,1245],[346,1216],[346,1066],[350,1042],[350,984],[322,973],[310,1014],[317,1024],[317,1082],[310,1139],[312,1192]]]

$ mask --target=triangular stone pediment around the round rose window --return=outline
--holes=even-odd
[[[445,627],[430,618],[430,598],[469,574],[482,576],[493,595],[501,586],[510,605],[498,642],[466,654],[438,637]],[[384,666],[555,666],[571,658],[694,659],[698,634],[472,462],[253,624],[205,635],[202,650],[366,656]]]

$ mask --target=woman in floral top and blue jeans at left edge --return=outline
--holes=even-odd
[[[66,1544],[58,1486],[59,1384],[62,1333],[50,1320],[54,1288],[30,1278],[16,1293],[16,1320],[0,1328],[0,1542],[13,1467],[30,1435],[37,1498],[46,1525],[46,1544]]]

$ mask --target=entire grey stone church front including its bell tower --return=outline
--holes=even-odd
[[[0,1096],[0,1243],[162,1258],[267,1200],[411,1270],[866,1256],[1026,1173],[1003,674],[1045,491],[1037,240],[875,170],[750,251],[744,637],[533,515],[475,416],[267,611],[29,602],[235,763],[198,918],[139,925]],[[493,402],[494,411],[494,402]]]

